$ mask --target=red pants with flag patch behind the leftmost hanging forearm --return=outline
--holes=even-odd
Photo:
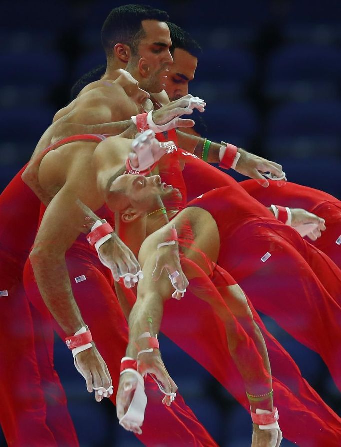
[[[111,272],[99,262],[96,254],[91,256],[89,251],[88,245],[82,248],[81,244],[76,242],[67,252],[66,261],[74,297],[110,371],[114,385],[114,394],[110,400],[114,403],[120,360],[125,355],[128,341],[128,327],[112,289]],[[86,280],[76,283],[74,278],[81,275],[85,275]],[[38,292],[29,262],[25,266],[24,282],[29,299],[43,318],[48,320],[49,312]],[[56,323],[54,324],[64,339],[65,334]],[[69,361],[72,361],[71,354],[69,355]],[[142,426],[143,434],[137,436],[141,442],[154,447],[216,446],[181,395],[178,394],[175,402],[168,408],[161,403],[162,394],[153,380],[146,383],[146,393],[148,405]]]

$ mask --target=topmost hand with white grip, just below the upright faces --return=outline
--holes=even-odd
[[[192,114],[193,108],[203,112],[205,105],[206,103],[202,99],[187,94],[159,110],[153,111],[152,119],[156,126],[164,126],[160,131],[167,131],[177,127],[193,127],[194,121],[192,119],[182,119],[179,116]]]

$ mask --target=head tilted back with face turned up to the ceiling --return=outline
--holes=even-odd
[[[173,194],[179,196],[180,192],[162,183],[159,175],[125,174],[108,181],[106,202],[111,211],[120,214],[122,221],[132,222],[155,209],[158,203],[163,206],[161,200]]]

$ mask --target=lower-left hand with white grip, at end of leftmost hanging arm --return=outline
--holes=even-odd
[[[112,386],[111,376],[102,356],[93,345],[90,349],[79,352],[74,357],[74,365],[77,371],[84,377],[88,392],[92,392],[93,388],[109,389]],[[110,397],[110,391],[98,389],[95,391],[95,398],[100,402],[104,397]]]

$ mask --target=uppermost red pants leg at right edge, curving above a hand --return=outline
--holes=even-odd
[[[290,182],[269,181],[263,188],[255,180],[240,182],[245,191],[265,206],[276,204],[290,208],[303,208],[325,220],[326,230],[316,241],[308,242],[327,254],[341,267],[341,202],[326,192]]]

